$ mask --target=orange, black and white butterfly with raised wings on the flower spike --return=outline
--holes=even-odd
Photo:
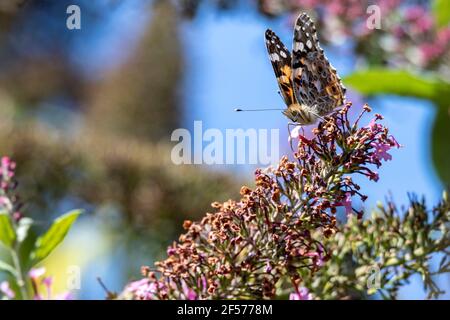
[[[286,117],[300,125],[313,124],[344,104],[346,89],[320,47],[314,22],[306,13],[295,23],[292,57],[272,30],[266,31],[265,40],[287,106],[283,110]]]

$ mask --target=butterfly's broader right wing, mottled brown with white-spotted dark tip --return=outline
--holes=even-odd
[[[294,29],[292,53],[293,87],[296,99],[325,115],[345,101],[345,87],[326,58],[311,18],[302,13]]]

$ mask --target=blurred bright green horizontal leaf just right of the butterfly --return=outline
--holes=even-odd
[[[450,84],[437,76],[425,77],[405,70],[357,71],[345,77],[344,83],[368,96],[385,93],[442,101],[450,93]]]

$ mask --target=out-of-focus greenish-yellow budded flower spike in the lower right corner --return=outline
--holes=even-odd
[[[443,291],[435,276],[450,272],[449,219],[446,192],[431,208],[415,196],[406,208],[380,203],[371,217],[353,217],[323,239],[330,260],[315,274],[304,272],[302,285],[322,299],[396,299],[399,289],[419,274],[428,298],[436,298]],[[436,253],[438,265],[431,260]]]

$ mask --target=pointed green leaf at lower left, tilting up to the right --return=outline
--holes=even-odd
[[[81,210],[73,210],[55,219],[47,232],[36,239],[34,250],[31,252],[33,265],[45,259],[64,240],[81,213]]]

